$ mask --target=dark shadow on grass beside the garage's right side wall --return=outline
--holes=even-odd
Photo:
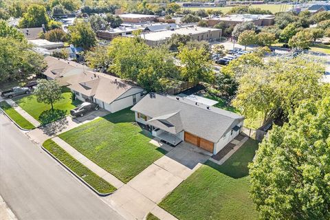
[[[218,170],[224,175],[228,175],[234,179],[239,179],[249,175],[248,164],[252,162],[256,150],[259,147],[259,142],[249,139],[239,148],[230,158],[228,158],[222,165],[206,161],[205,165]]]

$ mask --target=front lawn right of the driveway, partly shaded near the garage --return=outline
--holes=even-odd
[[[250,177],[247,167],[256,148],[258,142],[248,140],[223,165],[206,162],[159,206],[181,220],[258,219],[248,195]]]

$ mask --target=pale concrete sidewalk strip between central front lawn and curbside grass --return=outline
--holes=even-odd
[[[85,157],[82,153],[77,151],[74,147],[67,144],[67,142],[62,140],[60,137],[53,137],[52,140],[56,144],[61,146],[61,148],[63,148],[65,151],[67,151],[67,153],[72,155],[72,157],[74,157],[80,163],[82,163],[84,166],[89,168],[89,170],[96,173],[96,175],[98,175],[99,177],[102,177],[102,179],[109,182],[109,184],[111,184],[112,186],[115,186],[115,188],[120,188],[120,187],[124,186],[124,183],[122,181],[117,179],[115,176],[111,175],[111,173],[108,173],[106,170],[100,168],[100,166],[98,166],[97,164],[92,162],[90,159]]]

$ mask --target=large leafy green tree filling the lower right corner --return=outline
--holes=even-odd
[[[330,97],[305,101],[275,126],[250,164],[261,219],[330,218]]]

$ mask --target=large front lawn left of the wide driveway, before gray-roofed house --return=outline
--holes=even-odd
[[[65,142],[124,183],[165,153],[135,124],[124,109],[59,135]]]

